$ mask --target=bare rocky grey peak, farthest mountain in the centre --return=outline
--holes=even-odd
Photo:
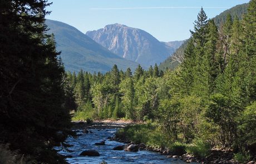
[[[154,66],[170,56],[175,50],[159,42],[151,34],[122,24],[109,24],[97,31],[86,32],[97,43],[120,57],[138,62],[143,66]]]

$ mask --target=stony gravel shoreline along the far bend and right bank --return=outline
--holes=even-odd
[[[87,123],[86,121],[79,121],[73,122],[72,130],[83,130],[83,132],[88,133],[92,129],[97,130],[105,130],[105,129],[112,129],[112,128],[124,128],[128,125],[136,124],[132,121],[111,121],[111,120],[104,120],[104,121],[94,121],[92,123]],[[116,136],[108,138],[109,140],[119,141],[122,143],[126,143],[126,147],[129,145],[135,145],[133,142],[127,140],[127,138],[118,138]],[[238,164],[238,161],[234,160],[234,153],[231,149],[224,149],[224,148],[212,148],[210,155],[206,157],[195,157],[189,153],[179,154],[177,152],[172,152],[167,148],[160,148],[160,147],[151,147],[147,146],[144,143],[136,144],[136,147],[139,150],[147,150],[153,152],[160,152],[163,155],[167,155],[169,158],[175,158],[177,160],[183,160],[184,162],[199,162],[199,163],[234,163]],[[256,157],[254,161],[248,162],[248,164],[256,164]]]

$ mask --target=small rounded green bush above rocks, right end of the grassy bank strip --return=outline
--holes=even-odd
[[[194,140],[191,145],[186,147],[186,151],[195,155],[204,157],[210,154],[210,144],[201,139]]]

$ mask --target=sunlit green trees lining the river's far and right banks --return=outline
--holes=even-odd
[[[116,66],[106,74],[68,73],[76,116],[152,120],[171,142],[200,140],[255,155],[255,11],[253,0],[241,21],[228,14],[218,28],[201,8],[174,71],[163,74],[155,65],[147,71],[138,66],[133,75]]]

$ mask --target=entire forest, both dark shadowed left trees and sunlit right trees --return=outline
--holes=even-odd
[[[198,156],[232,148],[245,161],[256,155],[256,0],[220,27],[201,8],[174,70],[114,65],[104,74],[65,72],[45,25],[50,4],[0,3],[0,150],[14,161],[65,163],[54,147],[68,151],[71,120],[104,119],[154,126],[144,141],[151,145]]]

